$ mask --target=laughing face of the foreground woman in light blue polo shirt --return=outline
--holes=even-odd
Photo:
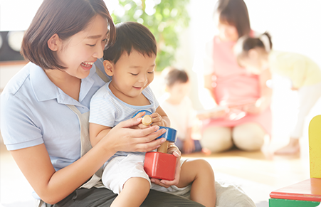
[[[63,71],[76,78],[86,78],[93,63],[102,58],[107,32],[107,19],[97,15],[87,28],[63,41],[57,51],[58,59],[67,67]]]

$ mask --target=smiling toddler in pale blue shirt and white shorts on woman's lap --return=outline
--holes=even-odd
[[[169,126],[166,113],[148,87],[154,79],[157,55],[154,36],[140,23],[120,23],[116,28],[115,44],[104,53],[105,71],[112,80],[102,86],[90,102],[90,141],[93,146],[112,127],[130,119],[139,110],[152,112],[152,126]],[[142,124],[140,127],[144,128]],[[173,154],[179,156],[178,152]],[[107,161],[102,182],[114,193],[119,193],[112,206],[140,206],[144,201],[151,184],[143,162],[144,153],[139,152],[117,152]],[[204,206],[215,206],[214,173],[204,160],[185,161],[180,172],[177,168],[174,181],[152,181],[160,185],[152,186],[158,191],[179,194],[191,189],[191,200]]]

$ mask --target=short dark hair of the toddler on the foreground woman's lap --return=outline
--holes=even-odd
[[[116,41],[113,46],[105,49],[104,60],[110,60],[112,63],[117,63],[120,56],[125,51],[128,55],[132,50],[135,50],[142,55],[152,54],[157,55],[157,43],[151,31],[141,23],[124,22],[117,23]]]

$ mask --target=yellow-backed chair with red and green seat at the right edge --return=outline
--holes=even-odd
[[[321,115],[309,125],[310,179],[270,193],[270,207],[321,206]]]

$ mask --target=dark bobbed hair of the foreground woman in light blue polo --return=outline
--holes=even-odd
[[[63,41],[68,39],[83,31],[96,15],[107,19],[107,45],[111,45],[115,41],[115,26],[103,0],[44,0],[23,36],[21,54],[41,68],[65,69],[48,48],[48,40],[55,33]]]

